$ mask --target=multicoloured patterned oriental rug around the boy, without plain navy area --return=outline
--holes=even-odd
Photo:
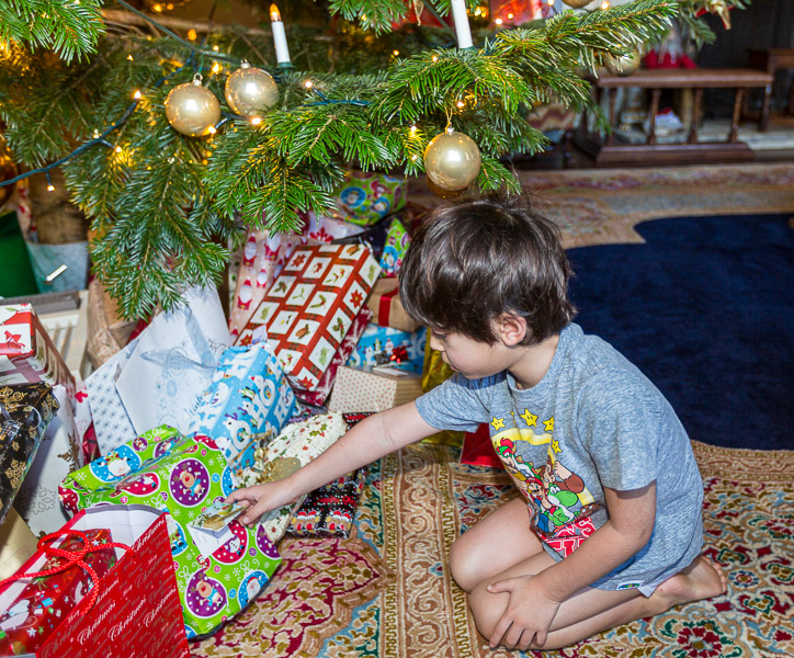
[[[524,172],[567,247],[642,241],[672,216],[794,212],[794,166]],[[417,192],[419,203],[424,203]],[[430,201],[430,200],[427,200]],[[429,205],[429,203],[426,203]],[[416,445],[374,464],[349,540],[283,540],[263,594],[192,656],[263,658],[757,658],[794,655],[794,451],[693,442],[706,554],[728,592],[558,653],[490,650],[451,580],[455,538],[517,495],[501,470]]]

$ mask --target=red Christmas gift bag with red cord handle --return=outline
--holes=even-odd
[[[37,658],[122,654],[135,658],[188,658],[166,517],[143,506],[101,506],[80,512],[58,533],[42,540],[39,551],[15,574],[15,581],[0,587],[0,610],[5,611],[0,626],[8,635],[9,629],[15,633],[24,628],[27,636],[24,648],[18,644],[23,640],[12,643],[14,655],[30,650],[33,642],[41,643],[38,648],[25,655]],[[106,541],[109,529],[112,542]],[[47,553],[52,553],[50,545],[59,541],[58,536],[66,536],[67,542],[76,542],[75,537],[80,541],[59,546],[70,548],[59,557],[65,559],[63,574],[32,588],[38,580],[33,574],[46,568],[52,559]],[[81,568],[81,557],[94,567],[95,580]],[[113,561],[116,564],[111,566]],[[25,589],[32,589],[31,597],[19,599]],[[67,606],[70,610],[64,613]],[[52,628],[44,637],[50,621]]]

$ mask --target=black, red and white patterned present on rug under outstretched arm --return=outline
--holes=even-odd
[[[287,534],[297,537],[349,537],[364,487],[366,467],[311,491],[295,512]]]

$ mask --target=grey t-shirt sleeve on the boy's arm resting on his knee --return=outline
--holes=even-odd
[[[642,489],[657,478],[661,394],[639,373],[603,371],[582,388],[577,429],[601,485]]]

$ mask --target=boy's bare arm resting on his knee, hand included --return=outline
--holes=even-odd
[[[562,561],[536,576],[500,580],[490,592],[510,592],[510,602],[490,637],[491,646],[512,626],[543,645],[559,604],[605,576],[648,543],[656,521],[656,481],[632,491],[604,488],[610,519]],[[546,602],[543,604],[543,602]]]

